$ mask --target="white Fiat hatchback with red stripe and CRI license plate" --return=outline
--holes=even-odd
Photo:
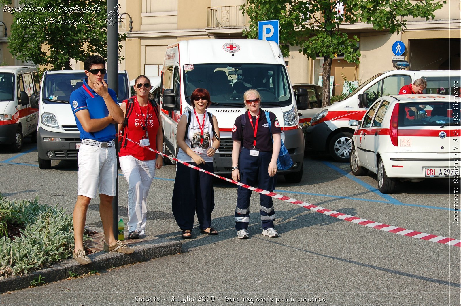
[[[384,96],[370,105],[352,138],[350,169],[378,174],[378,189],[392,193],[399,180],[458,178],[460,97]]]

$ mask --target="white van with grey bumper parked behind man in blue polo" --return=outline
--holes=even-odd
[[[37,127],[38,166],[49,169],[52,160],[77,160],[80,132],[72,113],[71,93],[83,85],[84,70],[45,71]],[[107,82],[107,74],[104,75]],[[110,85],[109,85],[110,88]],[[118,102],[130,98],[128,73],[118,72]]]

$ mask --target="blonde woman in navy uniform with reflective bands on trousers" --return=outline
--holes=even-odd
[[[264,110],[260,109],[259,92],[250,89],[243,94],[247,111],[237,117],[232,128],[232,179],[242,184],[274,191],[277,182],[277,159],[280,151],[280,124],[270,112],[271,125]],[[272,138],[273,142],[272,142]],[[251,190],[238,187],[235,228],[239,239],[248,238],[249,205]],[[262,234],[278,237],[274,230],[275,211],[272,197],[260,194]]]

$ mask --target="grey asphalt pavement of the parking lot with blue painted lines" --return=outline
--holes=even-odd
[[[305,158],[293,185],[277,192],[344,214],[434,235],[460,238],[453,225],[448,180],[401,183],[396,194],[377,191],[376,176],[351,176],[349,165]],[[77,166],[37,167],[34,144],[21,154],[0,148],[0,193],[59,203],[71,212]],[[148,196],[148,235],[182,243],[182,253],[0,295],[5,305],[460,305],[461,248],[379,231],[274,200],[276,230],[261,235],[259,195],[250,204],[250,239],[234,228],[236,187],[215,180],[212,225],[217,236],[182,240],[171,213],[175,166],[158,170]],[[127,218],[127,184],[119,176],[119,217]],[[87,225],[100,228],[97,203]]]

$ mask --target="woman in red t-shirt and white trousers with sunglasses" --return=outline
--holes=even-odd
[[[124,136],[154,150],[161,150],[163,135],[160,110],[157,104],[149,101],[150,81],[147,76],[140,75],[135,80],[136,96],[128,111],[128,123]],[[129,100],[124,100],[121,106],[126,115]],[[154,110],[154,107],[157,110]],[[157,117],[159,114],[159,117]],[[122,125],[119,125],[119,130]],[[120,168],[128,181],[128,239],[139,239],[145,234],[147,221],[146,198],[155,176],[155,169],[162,167],[162,156],[122,139],[118,154]]]

